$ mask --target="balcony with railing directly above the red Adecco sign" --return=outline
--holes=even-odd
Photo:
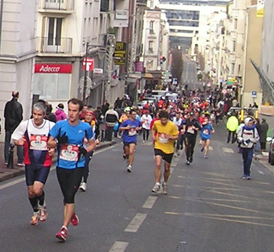
[[[72,38],[37,38],[38,53],[71,54],[72,45]]]

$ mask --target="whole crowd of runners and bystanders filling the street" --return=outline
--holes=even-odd
[[[140,101],[151,97],[144,90]],[[266,149],[268,125],[256,118],[256,104],[242,116],[236,92],[226,94],[221,89],[183,90],[176,99],[158,97],[142,107],[125,95],[114,104],[104,101],[97,108],[79,99],[60,103],[53,112],[51,104],[39,100],[33,105],[31,118],[23,121],[19,92],[12,92],[12,100],[5,105],[5,163],[12,140],[17,147],[18,166],[25,166],[25,181],[29,203],[32,206],[32,225],[47,220],[44,190],[52,164],[57,156],[56,174],[63,194],[64,214],[62,227],[55,236],[66,241],[69,223],[77,225],[75,194],[78,189],[88,190],[89,164],[99,142],[123,142],[125,166],[121,169],[134,175],[134,152],[137,140],[151,143],[154,150],[154,193],[168,194],[173,156],[185,158],[187,167],[194,162],[195,145],[200,144],[205,160],[210,158],[210,140],[216,125],[227,129],[227,143],[238,144],[242,153],[242,179],[251,179],[253,151]],[[65,106],[68,111],[64,111]],[[138,149],[138,147],[137,147]],[[185,153],[185,154],[184,154]],[[162,164],[163,163],[163,164]],[[163,167],[162,167],[163,166]]]

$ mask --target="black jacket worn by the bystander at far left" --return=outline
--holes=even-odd
[[[4,117],[6,131],[14,131],[14,129],[16,129],[16,127],[21,123],[23,120],[23,107],[17,99],[12,98],[10,101],[5,103]]]

